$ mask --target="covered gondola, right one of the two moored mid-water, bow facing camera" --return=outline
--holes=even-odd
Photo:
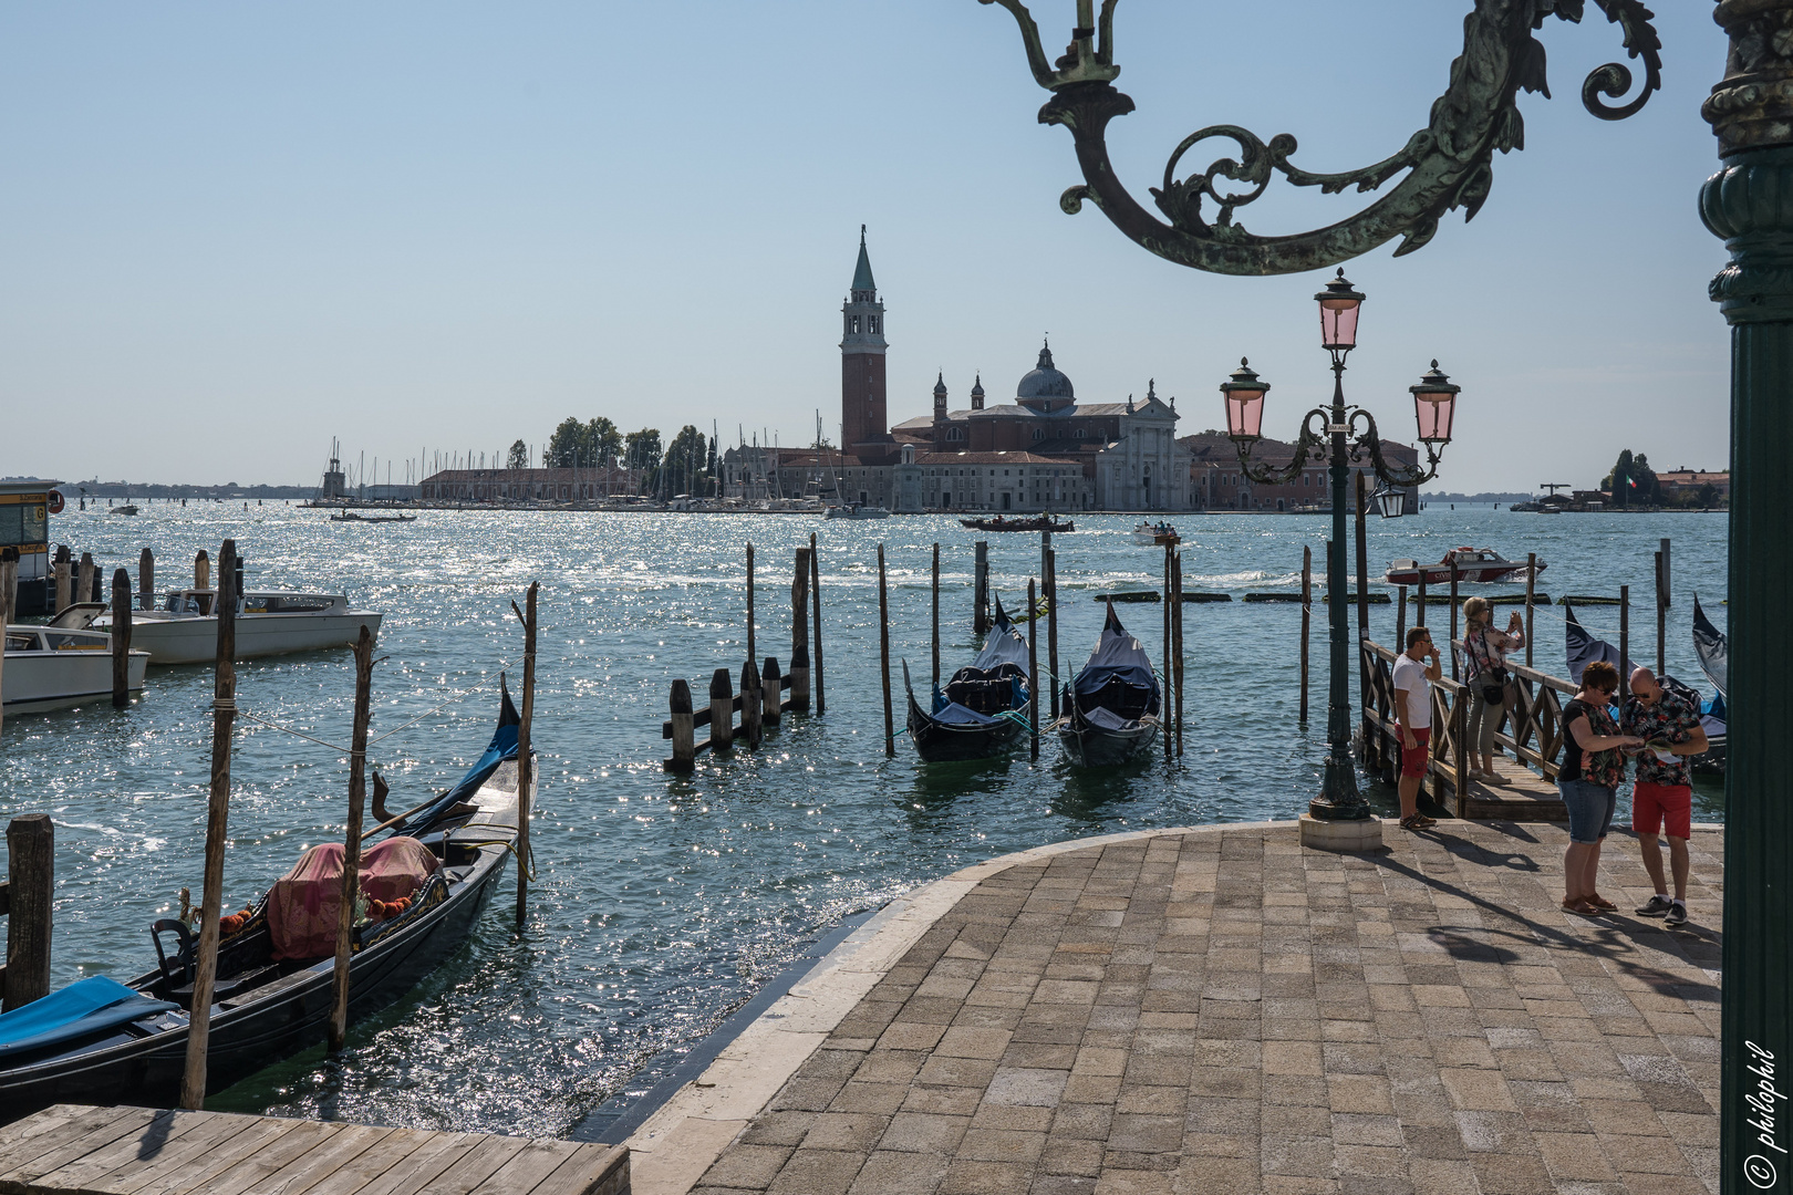
[[[1115,767],[1146,752],[1158,736],[1158,674],[1139,640],[1108,602],[1103,634],[1083,672],[1065,686],[1058,742],[1078,767]]]

